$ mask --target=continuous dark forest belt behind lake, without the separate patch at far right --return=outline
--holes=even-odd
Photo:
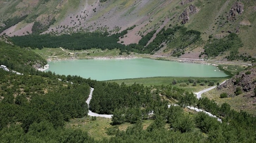
[[[132,27],[131,27],[132,28]],[[128,28],[129,30],[129,28]],[[139,41],[139,44],[133,43],[130,45],[123,45],[118,43],[119,37],[127,34],[127,29],[120,33],[109,35],[105,33],[73,33],[72,35],[63,34],[60,36],[53,36],[50,34],[29,34],[24,36],[11,37],[11,41],[20,47],[31,47],[31,48],[59,48],[71,50],[101,48],[101,49],[120,49],[121,52],[137,52],[145,54],[153,54],[157,52],[162,46],[162,43],[170,43],[171,48],[175,48],[176,53],[180,52],[191,45],[192,43],[200,40],[200,32],[195,30],[187,30],[183,26],[176,26],[174,28],[163,28],[157,34],[156,38],[147,45],[148,41],[152,38],[156,30],[147,33]],[[146,46],[147,45],[147,46]]]

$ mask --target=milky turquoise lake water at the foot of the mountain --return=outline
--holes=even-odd
[[[212,65],[152,59],[90,59],[48,62],[56,74],[79,75],[104,81],[139,77],[225,77],[224,71]]]

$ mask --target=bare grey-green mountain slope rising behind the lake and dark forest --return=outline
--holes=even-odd
[[[139,43],[152,30],[156,33],[148,43],[163,32],[162,28],[184,25],[188,30],[201,32],[201,40],[176,48],[173,43],[184,42],[177,38],[182,37],[178,32],[159,43],[157,51],[151,51],[152,54],[224,61],[256,57],[256,1],[23,0],[0,1],[0,8],[1,35],[60,35],[93,31],[113,34],[128,28],[128,33],[119,38],[120,43],[128,45]],[[204,53],[205,45],[213,42],[212,39],[223,39],[230,33],[237,34],[242,43],[233,54],[235,58],[225,58],[232,55],[233,48],[221,50],[217,56]]]

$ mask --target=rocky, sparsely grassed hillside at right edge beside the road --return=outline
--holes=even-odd
[[[246,68],[231,79],[221,84],[217,89],[202,94],[217,104],[228,103],[236,111],[246,111],[256,115],[256,67]]]

